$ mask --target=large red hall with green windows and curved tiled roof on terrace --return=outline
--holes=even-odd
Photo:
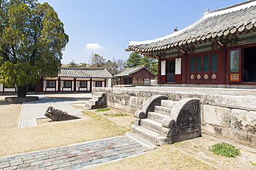
[[[187,28],[158,39],[130,41],[158,59],[158,84],[193,87],[256,85],[256,1],[206,11]]]

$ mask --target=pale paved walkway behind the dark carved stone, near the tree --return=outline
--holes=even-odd
[[[60,98],[46,98],[44,95],[38,95],[39,100],[25,102],[21,110],[19,127],[32,127],[37,125],[37,118],[46,118],[44,114],[49,106],[68,112],[71,115],[79,115],[83,109],[75,109],[69,104],[84,103],[82,100],[64,100]]]

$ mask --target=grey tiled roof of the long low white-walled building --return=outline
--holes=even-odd
[[[112,78],[106,68],[73,68],[62,67],[58,77],[73,78]]]

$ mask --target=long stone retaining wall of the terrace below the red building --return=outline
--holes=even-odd
[[[201,101],[201,130],[205,134],[231,140],[256,148],[256,97],[219,94],[192,94],[182,91],[142,90],[131,88],[94,88],[107,92],[107,105],[135,113],[147,98],[165,95],[170,100],[199,98]]]

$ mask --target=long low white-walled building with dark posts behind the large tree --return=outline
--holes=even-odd
[[[28,85],[28,92],[91,92],[92,87],[111,87],[111,78],[105,68],[62,67],[57,77]],[[17,92],[17,87],[0,84],[0,92]]]

